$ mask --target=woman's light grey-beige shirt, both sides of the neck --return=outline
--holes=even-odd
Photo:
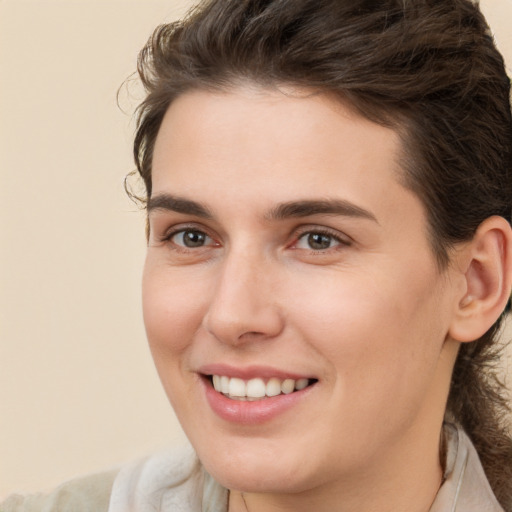
[[[475,448],[461,428],[445,425],[444,481],[430,512],[504,512]],[[191,447],[166,451],[119,471],[73,480],[50,495],[14,495],[1,512],[227,512],[228,491],[204,470]]]

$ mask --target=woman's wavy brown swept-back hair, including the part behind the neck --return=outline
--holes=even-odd
[[[241,81],[334,94],[399,133],[404,184],[425,205],[440,269],[492,215],[512,214],[510,81],[469,0],[210,0],[157,28],[139,56],[137,169],[151,195],[155,139],[169,104],[191,89]],[[501,320],[501,319],[500,319]],[[462,345],[447,414],[512,511],[509,409],[495,362],[498,321]]]

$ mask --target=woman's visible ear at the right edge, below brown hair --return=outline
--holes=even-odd
[[[512,287],[512,229],[503,217],[489,217],[461,253],[465,292],[457,298],[449,335],[474,341],[499,318]]]

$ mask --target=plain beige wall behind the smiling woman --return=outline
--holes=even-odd
[[[0,0],[0,496],[183,439],[145,343],[116,90],[189,3]],[[512,0],[482,5],[512,63]]]

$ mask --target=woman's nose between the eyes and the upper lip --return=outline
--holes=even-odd
[[[219,266],[205,329],[232,345],[276,337],[284,322],[272,264],[248,251],[232,251]]]

